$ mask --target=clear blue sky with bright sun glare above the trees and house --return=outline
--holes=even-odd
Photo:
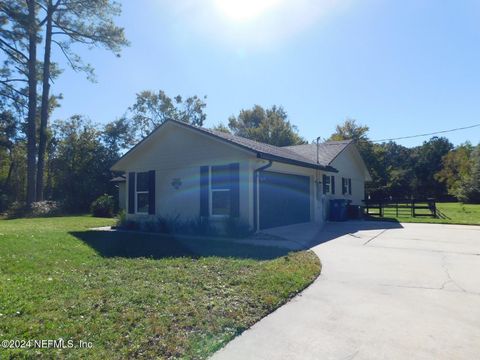
[[[125,1],[131,46],[120,58],[82,49],[98,82],[66,69],[53,118],[104,123],[162,89],[207,95],[206,126],[282,105],[309,141],[346,117],[371,139],[468,126],[480,123],[479,20],[476,0]],[[447,136],[478,143],[480,128]]]

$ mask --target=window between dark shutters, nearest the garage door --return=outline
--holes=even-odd
[[[230,168],[228,165],[212,166],[210,175],[211,214],[230,215]]]

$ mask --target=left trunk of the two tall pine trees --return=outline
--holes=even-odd
[[[28,5],[27,205],[35,201],[37,113],[37,24],[35,0]]]

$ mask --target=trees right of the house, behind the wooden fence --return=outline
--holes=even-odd
[[[355,140],[372,175],[367,197],[480,203],[480,143],[455,147],[445,137],[432,137],[408,148],[394,141],[374,143],[368,131],[347,119],[330,137]]]

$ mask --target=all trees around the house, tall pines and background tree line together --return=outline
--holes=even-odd
[[[203,126],[206,97],[145,90],[116,120],[99,125],[81,114],[51,121],[62,94],[58,62],[94,81],[93,67],[76,52],[101,47],[119,56],[129,42],[115,24],[111,0],[11,0],[0,3],[0,211],[43,199],[85,211],[103,193],[115,193],[110,167],[126,149],[169,119]],[[41,54],[42,56],[39,56]],[[304,144],[281,106],[255,105],[214,126],[276,146]],[[435,197],[480,202],[480,148],[454,147],[434,137],[407,148],[374,143],[369,128],[347,119],[328,140],[355,140],[372,174],[371,198]]]

